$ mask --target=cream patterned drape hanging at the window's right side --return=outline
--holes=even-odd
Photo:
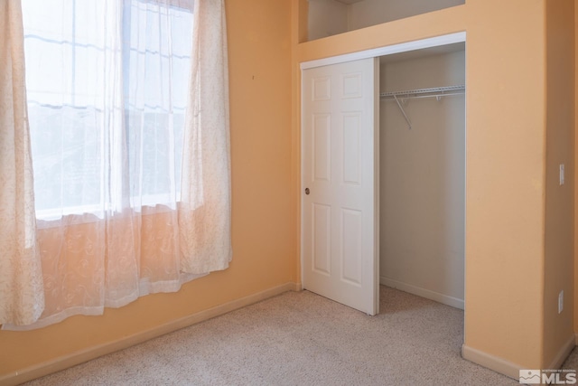
[[[194,17],[179,224],[182,269],[201,273],[232,257],[224,0],[196,1]]]

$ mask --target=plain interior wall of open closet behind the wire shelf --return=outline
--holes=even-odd
[[[414,55],[415,56],[415,55]],[[381,58],[380,91],[465,84],[465,52]],[[380,100],[380,282],[463,308],[465,96]]]

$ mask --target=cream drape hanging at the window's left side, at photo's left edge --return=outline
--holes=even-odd
[[[32,324],[44,309],[22,20],[20,1],[0,2],[0,325]]]

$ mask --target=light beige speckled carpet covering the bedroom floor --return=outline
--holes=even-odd
[[[380,297],[368,316],[287,292],[26,385],[519,384],[461,358],[461,310],[383,286]]]

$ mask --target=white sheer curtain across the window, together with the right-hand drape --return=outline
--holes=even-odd
[[[223,0],[23,0],[45,307],[3,328],[100,315],[228,267],[224,12]]]

